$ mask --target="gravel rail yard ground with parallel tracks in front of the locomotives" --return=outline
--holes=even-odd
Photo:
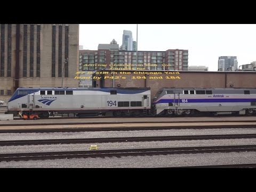
[[[82,165],[90,167],[87,162],[93,161],[108,162],[99,163],[103,167],[116,167],[122,163],[110,165],[109,162],[119,160],[124,162],[126,158],[127,164],[131,162],[129,160],[131,158],[167,158],[162,165],[150,164],[148,167],[256,167],[254,164],[256,123],[254,122],[240,124],[238,122],[93,124],[91,122],[87,125],[84,122],[84,124],[70,123],[70,125],[31,124],[27,127],[9,125],[10,129],[9,126],[0,126],[0,138],[3,138],[0,139],[0,151],[2,151],[0,167],[10,167],[17,163],[24,166],[25,162],[31,160],[34,160],[33,164],[62,161],[53,163],[62,167],[63,161],[67,162],[69,159],[73,165],[74,162],[84,161]],[[90,145],[97,145],[99,148],[90,150]],[[194,163],[191,163],[191,156],[195,158]],[[204,163],[198,163],[197,156],[204,159]],[[227,162],[214,161],[213,156],[226,158]],[[241,161],[238,160],[238,156]],[[86,158],[93,160],[83,160]],[[179,160],[170,163],[177,158],[188,158],[188,160],[185,159],[183,163],[179,163]],[[135,160],[137,161],[139,162]],[[150,160],[146,161],[150,162]],[[47,163],[44,163],[46,167],[49,165]],[[134,164],[130,166],[136,167]]]

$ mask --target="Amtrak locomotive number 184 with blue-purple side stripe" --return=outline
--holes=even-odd
[[[153,106],[156,115],[252,115],[256,112],[256,89],[163,88]]]

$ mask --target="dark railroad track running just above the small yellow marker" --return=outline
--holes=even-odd
[[[251,139],[251,138],[256,138],[256,134],[181,135],[181,136],[159,136],[159,137],[45,139],[45,140],[8,140],[8,141],[0,141],[0,146],[54,145],[54,144],[107,143],[107,142],[141,142],[141,141],[175,141],[175,140],[209,140],[209,139]]]

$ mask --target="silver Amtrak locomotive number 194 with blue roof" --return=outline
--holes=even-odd
[[[139,116],[151,109],[149,88],[18,88],[7,103],[7,113],[76,116]]]

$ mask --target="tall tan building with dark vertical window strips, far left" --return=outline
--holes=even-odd
[[[78,24],[1,24],[2,100],[18,87],[78,87],[78,36]]]

